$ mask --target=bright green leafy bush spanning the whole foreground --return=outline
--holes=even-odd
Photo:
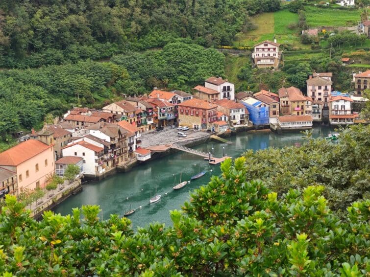
[[[192,194],[173,227],[133,232],[127,218],[99,221],[99,207],[37,222],[13,196],[0,215],[4,276],[361,276],[369,274],[370,200],[344,221],[322,186],[277,197],[246,181],[246,160],[226,160],[221,177]],[[7,273],[10,274],[7,274]]]

